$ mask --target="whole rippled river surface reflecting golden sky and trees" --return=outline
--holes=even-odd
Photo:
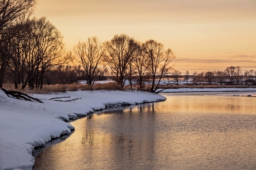
[[[256,169],[256,98],[165,96],[72,122],[35,169]]]

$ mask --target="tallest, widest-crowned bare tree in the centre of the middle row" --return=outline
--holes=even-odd
[[[104,45],[106,49],[104,61],[108,63],[111,72],[115,75],[116,82],[124,88],[124,82],[129,74],[129,64],[132,63],[140,46],[135,39],[126,34],[115,35]]]

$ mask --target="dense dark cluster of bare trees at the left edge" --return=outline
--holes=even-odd
[[[46,18],[31,18],[35,0],[0,2],[0,88],[6,73],[15,88],[42,88],[45,73],[72,59],[61,33]]]

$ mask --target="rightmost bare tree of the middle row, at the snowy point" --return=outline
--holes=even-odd
[[[176,56],[173,50],[164,50],[164,45],[153,39],[146,41],[142,49],[148,74],[151,76],[150,91],[154,93],[159,88],[162,78],[172,69],[170,63]]]

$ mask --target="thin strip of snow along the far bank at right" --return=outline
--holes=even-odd
[[[165,89],[165,90],[162,90],[161,92],[162,93],[182,93],[182,92],[238,92],[238,91],[242,91],[242,92],[256,91],[256,88],[177,88],[177,89]]]

